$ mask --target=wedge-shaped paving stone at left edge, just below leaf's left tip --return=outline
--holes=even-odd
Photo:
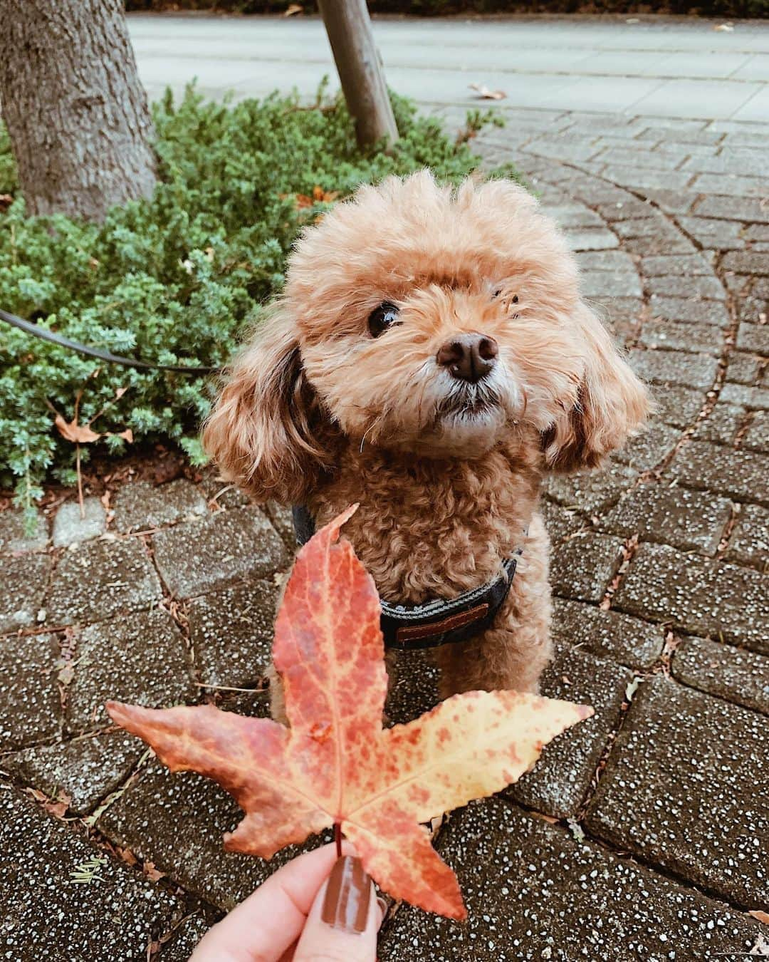
[[[48,797],[65,793],[71,811],[86,815],[128,777],[143,750],[133,735],[113,730],[25,748],[3,758],[2,767]]]

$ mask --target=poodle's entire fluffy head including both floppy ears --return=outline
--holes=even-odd
[[[470,459],[519,423],[544,467],[570,470],[621,446],[647,406],[533,197],[424,171],[305,233],[204,443],[253,494],[300,500],[339,443]]]

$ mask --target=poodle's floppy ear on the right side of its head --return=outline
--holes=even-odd
[[[641,427],[650,409],[646,388],[582,302],[573,322],[584,345],[577,403],[543,435],[546,463],[558,471],[598,466]]]

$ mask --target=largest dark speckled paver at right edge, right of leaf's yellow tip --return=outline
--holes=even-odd
[[[762,716],[657,676],[633,698],[587,826],[732,903],[765,904],[767,752]]]

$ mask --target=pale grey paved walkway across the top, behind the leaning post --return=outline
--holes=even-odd
[[[637,19],[639,22],[630,22]],[[704,119],[769,119],[769,23],[694,18],[473,20],[377,18],[392,89],[424,104],[468,104],[468,85],[502,89],[503,106]],[[207,96],[263,96],[336,86],[316,17],[129,18],[139,74],[152,96],[198,78]]]

